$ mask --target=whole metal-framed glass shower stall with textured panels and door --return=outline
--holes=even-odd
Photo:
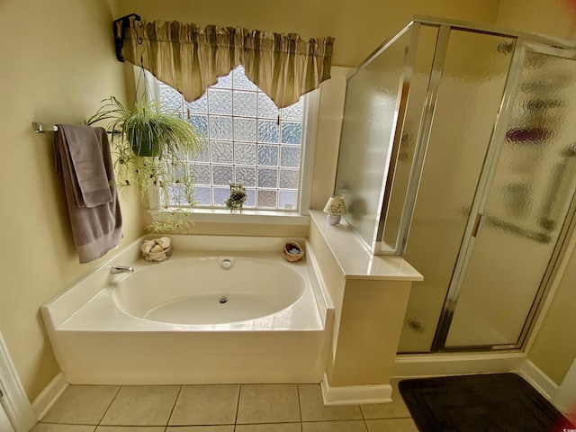
[[[347,80],[335,192],[424,275],[400,353],[521,348],[572,233],[575,47],[415,17]]]

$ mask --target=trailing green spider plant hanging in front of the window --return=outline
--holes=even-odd
[[[150,210],[162,207],[169,213],[148,229],[164,232],[189,228],[192,222],[185,210],[170,210],[168,204],[194,204],[188,161],[202,151],[202,134],[162,103],[140,100],[128,109],[113,96],[103,100],[86,124],[99,121],[108,121],[107,130],[112,132],[119,188],[138,187],[142,198],[148,198]]]

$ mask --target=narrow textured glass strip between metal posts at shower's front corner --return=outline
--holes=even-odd
[[[432,61],[436,49],[438,28],[422,26],[419,33],[418,51],[410,77],[410,94],[401,130],[400,148],[392,181],[388,208],[384,219],[383,251],[397,250],[398,231],[402,210],[410,180],[410,171],[419,134],[420,118],[426,100],[428,83],[432,71]]]

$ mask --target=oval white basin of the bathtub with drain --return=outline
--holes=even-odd
[[[304,289],[293,267],[269,259],[202,257],[141,268],[112,297],[132,317],[202,325],[266,317],[293,305]]]

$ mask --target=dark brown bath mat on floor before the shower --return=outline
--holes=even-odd
[[[399,388],[423,432],[556,432],[574,428],[517,374],[404,380]]]

